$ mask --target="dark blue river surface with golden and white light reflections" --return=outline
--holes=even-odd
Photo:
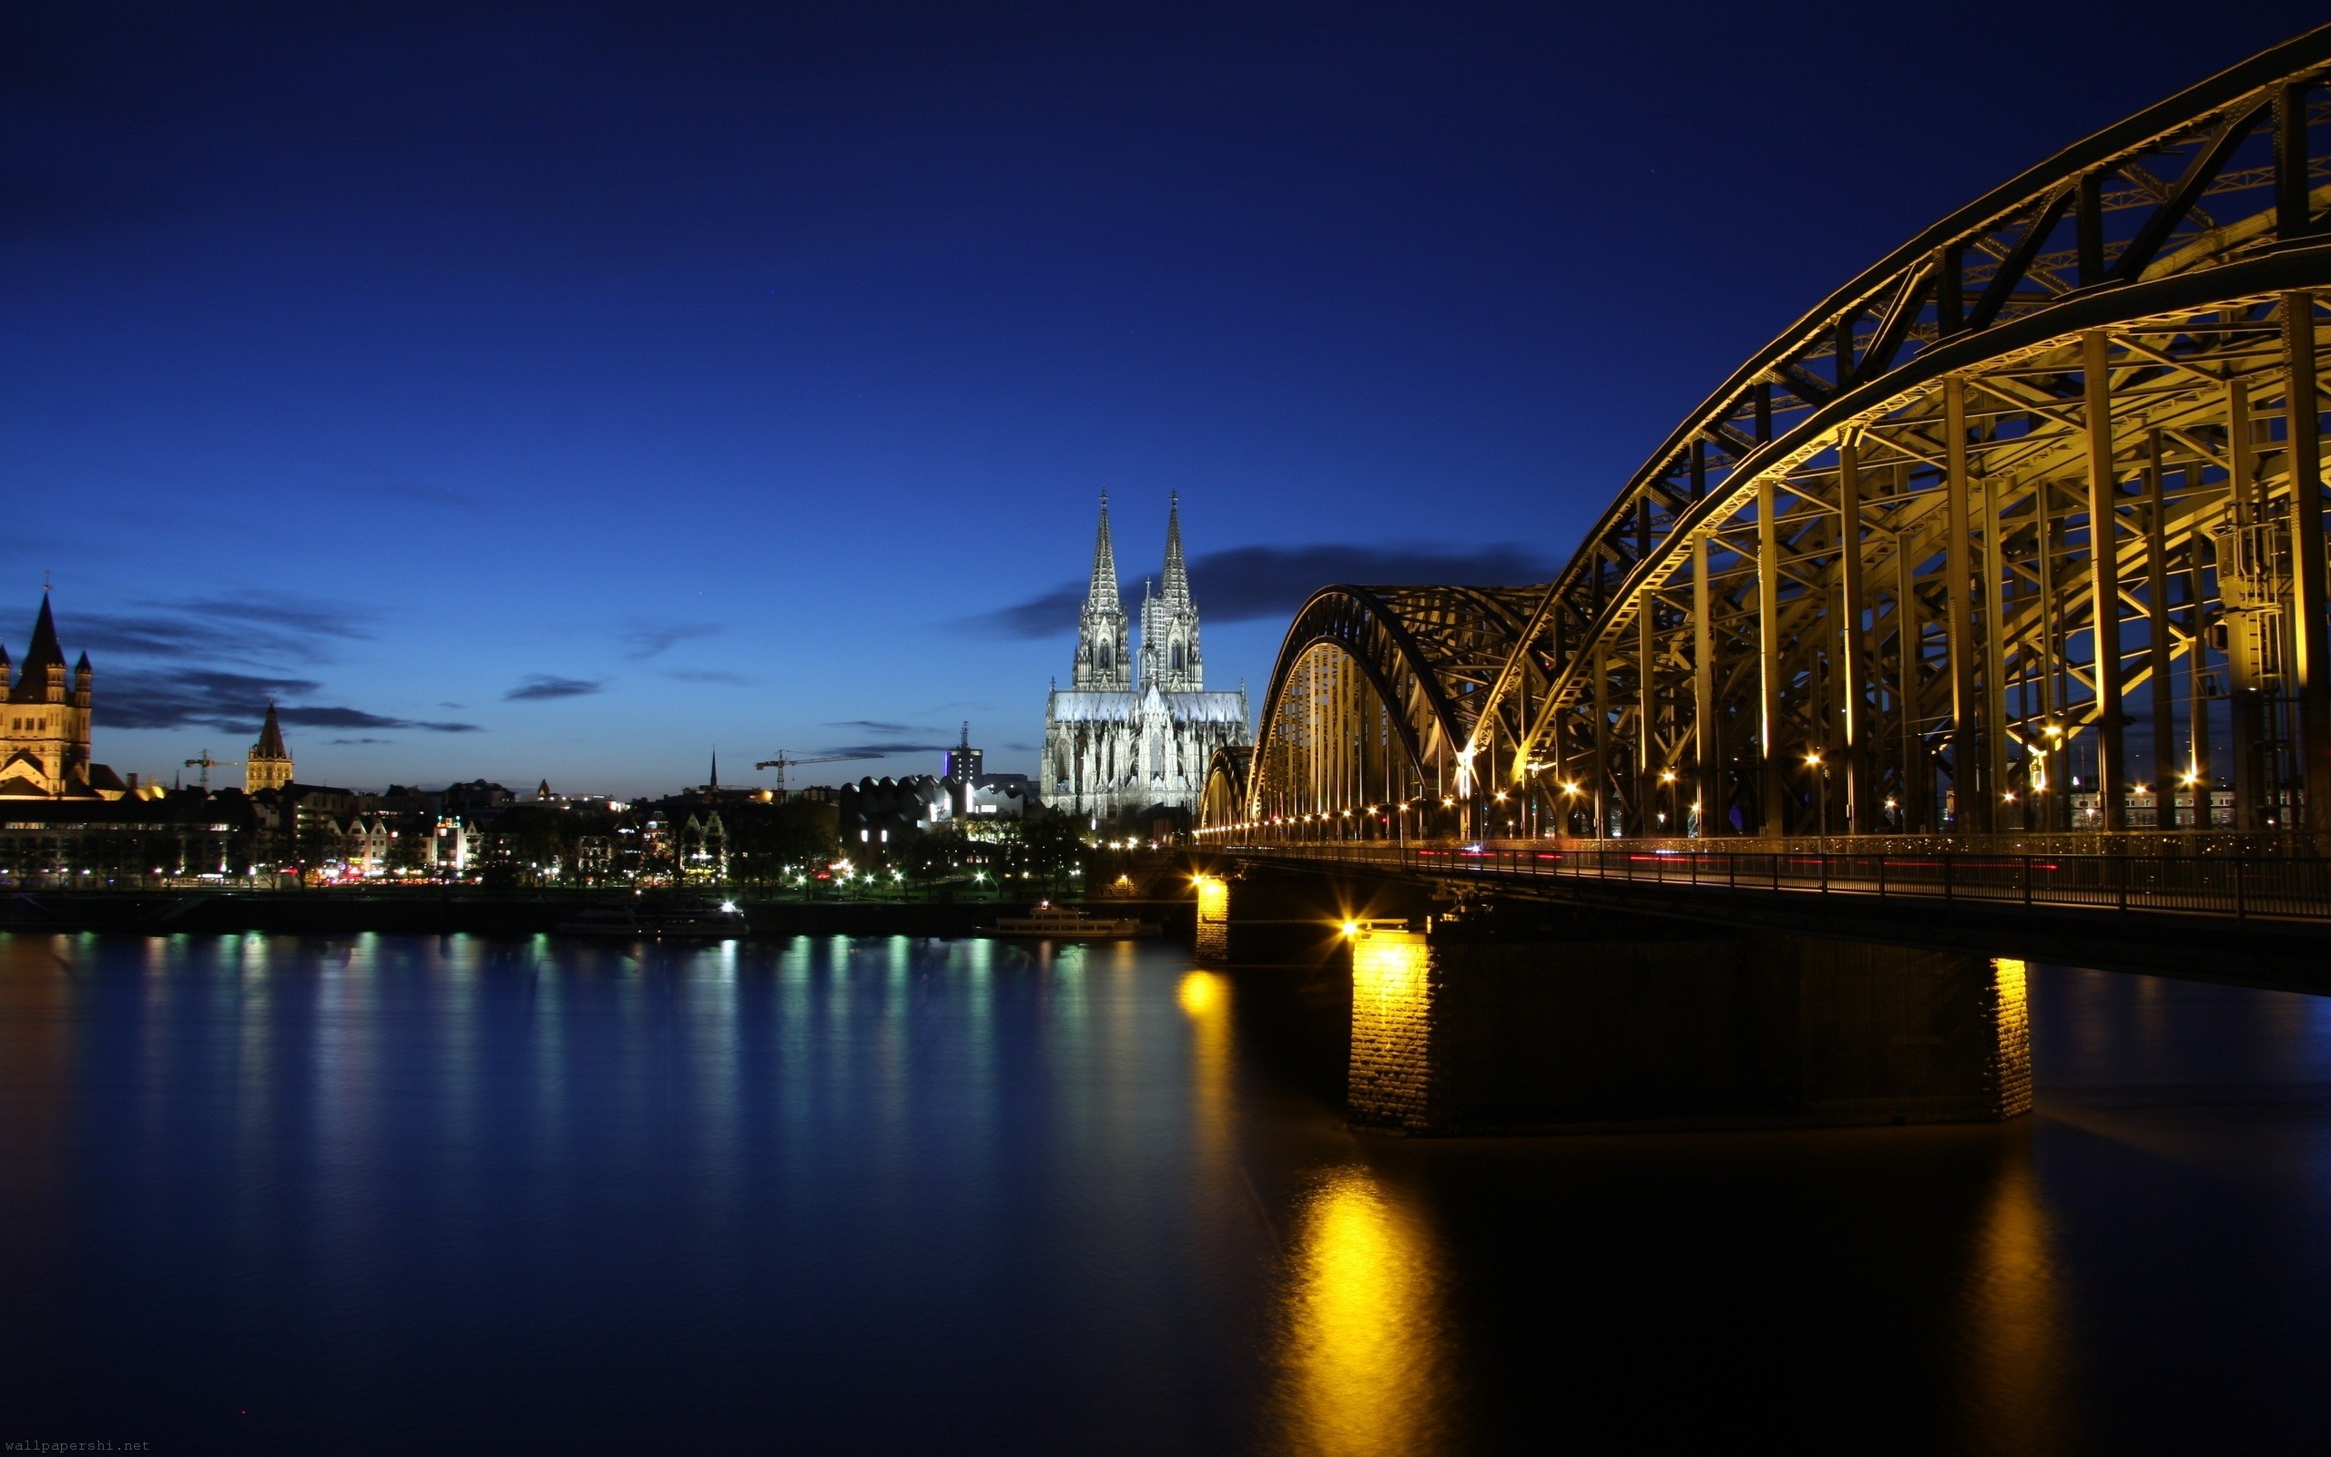
[[[1170,944],[0,937],[0,1443],[2263,1452],[2331,1002],[2033,974],[1998,1128],[1394,1142]]]

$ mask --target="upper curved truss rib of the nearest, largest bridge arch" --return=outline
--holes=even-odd
[[[1639,580],[1641,559],[1674,539],[1685,513],[1671,511],[1671,501],[1727,485],[1748,490],[1744,471],[1818,434],[1816,417],[1837,413],[1841,394],[1902,394],[1907,371],[1930,352],[2014,326],[2082,287],[2214,268],[2312,235],[2317,212],[2331,205],[2331,186],[2312,180],[2312,156],[2324,147],[2308,145],[2310,131],[2326,124],[2317,100],[2326,70],[2331,26],[2068,147],[1830,294],[1741,364],[1629,478],[1531,611],[1527,641],[1557,632],[1587,641],[1592,625],[1625,597],[1622,583]],[[2280,135],[2287,131],[2280,117],[2291,112],[2301,117],[2298,147]],[[2263,166],[2238,166],[2259,154]],[[2147,163],[2161,161],[2182,175],[2179,184],[2154,177]],[[2291,177],[2303,207],[2287,198]],[[2126,186],[2114,189],[2114,180]],[[2238,221],[2198,212],[2200,196],[2231,198]],[[2061,242],[2070,247],[2051,249]],[[2152,261],[2128,280],[2107,277],[2107,263],[2133,256],[2131,245],[2149,249]],[[2093,254],[2086,261],[2093,282],[2077,273],[2084,252]],[[2035,294],[2016,296],[2012,289],[2042,259],[2061,259],[2075,277],[2035,282]],[[1515,671],[1499,676],[1492,702],[1515,690]]]

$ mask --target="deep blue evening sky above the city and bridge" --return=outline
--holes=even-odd
[[[352,9],[0,21],[0,636],[54,571],[124,772],[270,692],[333,783],[1028,769],[1098,492],[1135,592],[1182,492],[1259,690],[1308,587],[1550,573],[1846,275],[2322,19]]]

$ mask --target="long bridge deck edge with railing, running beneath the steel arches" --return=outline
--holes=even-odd
[[[1648,846],[1578,849],[1550,842],[1354,842],[1219,849],[1275,860],[1357,863],[1436,879],[1620,881],[1734,895],[1837,895],[2331,921],[2331,860],[2287,856],[1671,851]]]

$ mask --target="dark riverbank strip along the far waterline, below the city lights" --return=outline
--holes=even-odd
[[[429,886],[399,891],[16,891],[0,895],[0,932],[121,935],[545,935],[608,895],[543,895]],[[1026,900],[748,900],[753,937],[786,935],[979,935]],[[1112,914],[1189,935],[1184,900],[1110,900]]]

